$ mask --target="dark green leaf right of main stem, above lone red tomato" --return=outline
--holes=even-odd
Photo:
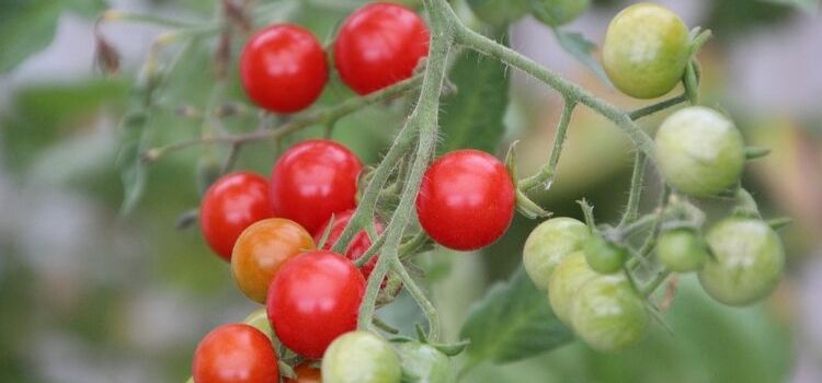
[[[505,66],[466,50],[455,62],[450,80],[457,94],[443,102],[441,151],[471,148],[493,152],[505,132],[510,83]]]

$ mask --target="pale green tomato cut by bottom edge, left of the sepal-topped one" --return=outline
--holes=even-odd
[[[391,345],[368,332],[343,334],[322,356],[323,383],[399,383],[400,376]]]

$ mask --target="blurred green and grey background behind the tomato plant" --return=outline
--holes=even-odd
[[[260,15],[256,26],[290,20],[322,38],[363,2],[290,1]],[[713,31],[716,37],[699,57],[704,103],[731,113],[750,144],[773,150],[751,163],[744,184],[766,217],[795,220],[780,231],[788,254],[784,282],[767,301],[731,309],[683,277],[666,314],[673,335],[655,326],[640,347],[615,356],[573,343],[522,362],[480,365],[464,381],[822,382],[822,19],[783,4],[813,9],[814,1],[659,2],[688,25]],[[133,108],[133,85],[149,47],[165,28],[101,25],[101,35],[121,55],[119,71],[105,76],[95,69],[94,25],[105,9],[197,21],[207,20],[215,3],[0,1],[1,382],[183,382],[199,338],[255,309],[235,287],[228,265],[207,249],[196,225],[175,229],[178,217],[196,208],[207,178],[203,169],[225,154],[221,149],[192,149],[151,164],[142,198],[132,212],[121,213],[119,124]],[[590,12],[563,30],[601,42],[610,18],[628,3],[594,1]],[[512,26],[510,44],[620,106],[639,105],[603,85],[534,19]],[[163,58],[178,55],[180,61],[151,114],[150,143],[198,134],[203,123],[192,111],[206,104],[215,89],[214,45],[214,38],[198,39],[160,53]],[[236,68],[229,73],[225,97],[244,100]],[[536,81],[509,74],[511,103],[498,154],[522,139],[521,166],[527,174],[547,156],[561,104]],[[335,82],[321,102],[347,96]],[[406,111],[403,102],[365,109],[341,120],[333,138],[375,163]],[[238,114],[226,129],[251,130],[256,121],[253,113]],[[653,129],[659,121],[653,117],[646,124]],[[322,131],[309,129],[290,141]],[[266,142],[250,146],[238,167],[267,174],[278,150]],[[613,220],[627,197],[631,159],[617,129],[578,109],[557,183],[540,202],[558,214],[579,217],[574,201],[586,197],[598,220]],[[650,206],[654,182],[648,189]],[[715,205],[708,201],[706,208],[717,211]],[[518,267],[534,224],[517,218],[484,254],[435,251],[422,258],[448,337],[456,337],[470,304]],[[402,328],[420,320],[406,297],[383,316]]]

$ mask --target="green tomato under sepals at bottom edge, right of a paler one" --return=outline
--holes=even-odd
[[[402,381],[416,383],[454,383],[457,375],[445,353],[431,345],[408,341],[397,346],[402,364]]]

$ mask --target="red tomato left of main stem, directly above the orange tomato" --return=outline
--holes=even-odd
[[[293,220],[310,233],[356,206],[359,159],[329,140],[309,140],[288,149],[271,174],[271,204],[276,217]]]

